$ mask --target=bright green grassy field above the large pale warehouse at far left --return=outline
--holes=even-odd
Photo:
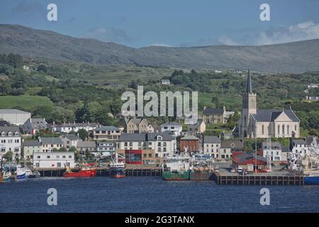
[[[52,101],[44,96],[0,96],[0,109],[12,109],[21,107],[23,109],[33,109],[37,106],[52,106]]]

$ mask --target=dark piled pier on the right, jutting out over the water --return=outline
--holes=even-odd
[[[218,185],[304,185],[302,176],[289,175],[227,175],[213,172]]]

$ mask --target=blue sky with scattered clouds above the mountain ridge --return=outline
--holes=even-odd
[[[52,3],[57,21],[47,20]],[[319,38],[318,11],[318,0],[0,0],[0,23],[134,48],[268,45]]]

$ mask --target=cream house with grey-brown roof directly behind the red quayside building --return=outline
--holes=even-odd
[[[244,142],[242,140],[222,140],[220,149],[214,157],[218,160],[228,160],[233,157],[234,152],[243,152]]]

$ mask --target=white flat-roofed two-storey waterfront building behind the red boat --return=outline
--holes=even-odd
[[[33,153],[33,167],[35,169],[64,169],[65,165],[75,167],[73,152],[39,152]]]

